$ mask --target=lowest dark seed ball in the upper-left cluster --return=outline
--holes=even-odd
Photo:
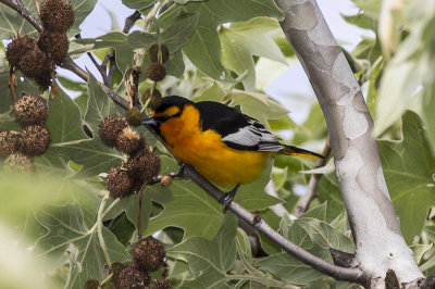
[[[51,85],[51,75],[54,73],[54,63],[37,46],[23,55],[16,67],[24,76],[33,78],[41,90]]]

